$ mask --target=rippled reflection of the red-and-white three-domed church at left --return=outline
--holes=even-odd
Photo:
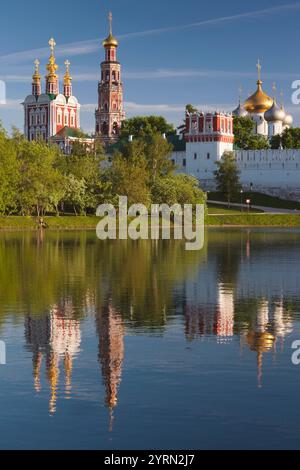
[[[65,370],[65,395],[72,389],[73,360],[81,344],[80,322],[73,318],[71,302],[55,306],[43,317],[28,316],[25,320],[28,349],[33,354],[33,375],[36,392],[41,391],[41,368],[45,358],[51,390],[49,410],[56,412],[61,362]]]

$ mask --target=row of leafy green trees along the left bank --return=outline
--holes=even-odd
[[[150,130],[133,142],[123,137],[108,165],[101,145],[90,152],[76,143],[72,155],[64,155],[57,146],[28,142],[16,130],[8,136],[1,128],[0,214],[94,214],[119,196],[147,206],[203,202],[195,178],[175,175],[172,146],[160,129]]]

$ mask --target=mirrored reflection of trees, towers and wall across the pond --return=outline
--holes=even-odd
[[[63,374],[71,397],[82,322],[93,317],[112,429],[128,331],[163,337],[171,319],[183,319],[189,342],[216,338],[219,348],[237,342],[255,352],[261,387],[264,355],[283,351],[293,332],[299,259],[295,232],[210,231],[199,253],[172,241],[100,242],[94,233],[2,234],[0,327],[25,312],[34,388],[42,389],[45,364],[53,415]]]

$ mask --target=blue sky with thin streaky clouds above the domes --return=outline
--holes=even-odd
[[[265,91],[272,94],[276,81],[300,125],[300,110],[291,103],[291,84],[300,79],[300,1],[11,0],[1,8],[0,79],[7,104],[0,105],[0,119],[7,128],[22,128],[19,103],[30,93],[33,61],[40,58],[45,75],[54,36],[60,76],[68,58],[82,127],[93,130],[110,10],[128,116],[161,114],[178,124],[187,103],[232,110],[240,85],[244,98],[255,90],[260,58]]]

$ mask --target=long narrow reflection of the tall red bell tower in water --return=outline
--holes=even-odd
[[[106,389],[106,404],[110,409],[113,425],[113,411],[118,403],[118,388],[122,380],[124,360],[124,326],[121,316],[111,303],[102,310],[97,319],[99,334],[99,361]]]

